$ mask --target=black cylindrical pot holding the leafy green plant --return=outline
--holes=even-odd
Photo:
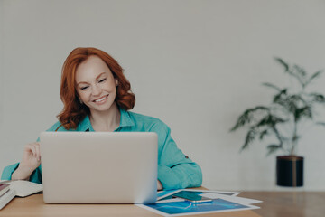
[[[303,185],[303,157],[276,157],[276,184],[286,187],[301,187]]]

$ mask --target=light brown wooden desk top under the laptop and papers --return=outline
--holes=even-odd
[[[154,212],[144,210],[132,204],[46,204],[42,200],[42,194],[34,194],[26,198],[14,198],[8,203],[0,216],[6,217],[98,217],[98,216],[141,216],[158,217]],[[260,217],[253,211],[220,212],[195,216],[218,217]]]

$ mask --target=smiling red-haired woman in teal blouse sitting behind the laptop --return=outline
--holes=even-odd
[[[60,98],[64,108],[48,131],[155,132],[158,135],[158,190],[198,187],[200,166],[185,156],[160,119],[129,112],[135,95],[121,66],[96,48],[76,48],[63,64]],[[24,148],[21,163],[5,167],[2,179],[42,184],[40,143]]]

